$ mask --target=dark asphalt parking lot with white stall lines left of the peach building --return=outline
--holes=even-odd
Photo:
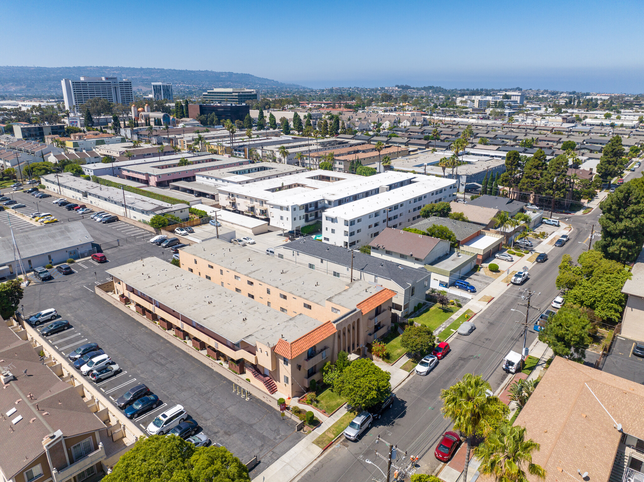
[[[106,229],[112,229],[111,226],[100,225],[95,231],[98,235],[88,230],[92,236],[99,236]],[[145,239],[152,236],[147,233]],[[116,400],[135,384],[146,384],[166,405],[140,416],[135,423],[146,427],[161,411],[179,403],[213,443],[224,445],[244,463],[258,456],[260,464],[251,476],[260,473],[303,438],[301,432],[294,431],[294,422],[282,420],[278,411],[256,400],[252,394],[251,400],[246,401],[232,393],[232,384],[227,378],[189,357],[93,292],[95,284],[107,281],[106,269],[150,255],[169,261],[172,255],[169,250],[138,241],[104,253],[108,258],[106,263],[86,258],[71,265],[75,272],[70,275],[31,283],[24,291],[22,303],[25,314],[56,308],[62,319],[69,320],[70,329],[50,338],[61,355],[68,355],[84,343],[96,342],[122,367],[122,373],[99,384],[108,399]],[[82,375],[79,372],[77,376]]]

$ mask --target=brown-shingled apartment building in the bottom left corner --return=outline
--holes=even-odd
[[[23,331],[24,333],[24,331]],[[28,340],[0,326],[5,435],[0,438],[0,479],[12,482],[96,479],[103,472],[106,425],[64,383]],[[27,375],[24,375],[26,373]]]

